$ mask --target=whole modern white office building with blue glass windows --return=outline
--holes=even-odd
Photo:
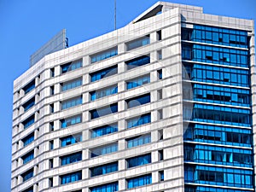
[[[159,2],[61,47],[15,79],[12,192],[254,191],[253,20]]]

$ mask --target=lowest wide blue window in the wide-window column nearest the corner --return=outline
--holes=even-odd
[[[136,188],[139,186],[147,185],[152,183],[152,176],[151,174],[143,175],[139,177],[132,177],[127,179],[127,188]]]

